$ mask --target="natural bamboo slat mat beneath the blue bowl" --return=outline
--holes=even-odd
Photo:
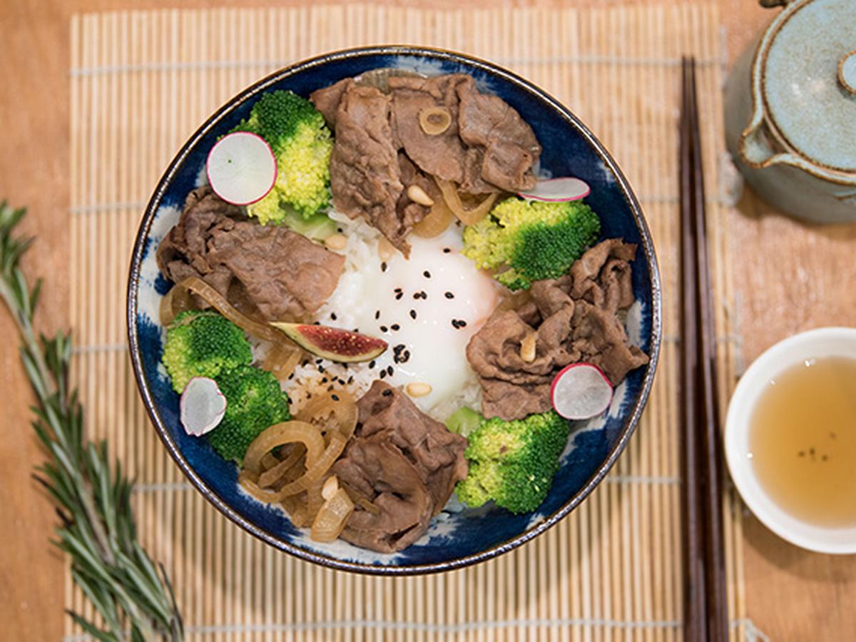
[[[722,399],[737,357],[731,211],[716,197],[724,48],[716,7],[369,6],[76,16],[71,82],[74,379],[92,437],[138,480],[140,538],[175,584],[192,640],[675,640],[681,631],[677,105],[682,53],[699,103]],[[663,271],[663,352],[636,434],[574,514],[531,544],[454,573],[364,577],[254,540],[182,479],[149,424],[125,344],[125,285],[142,209],[183,140],[220,104],[289,62],[352,45],[466,51],[533,80],[613,152],[645,208]],[[744,639],[740,518],[726,499],[733,639]],[[66,605],[92,614],[68,577]],[[83,639],[68,626],[67,639]]]

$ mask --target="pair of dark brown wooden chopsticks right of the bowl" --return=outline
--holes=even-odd
[[[728,639],[722,537],[722,456],[704,168],[694,59],[681,63],[681,455],[685,639]]]

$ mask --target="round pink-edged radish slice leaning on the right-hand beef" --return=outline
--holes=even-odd
[[[609,407],[612,384],[597,366],[574,363],[553,379],[550,401],[565,419],[591,419]]]

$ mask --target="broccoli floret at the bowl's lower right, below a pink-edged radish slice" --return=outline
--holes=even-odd
[[[468,506],[493,500],[512,513],[538,508],[550,491],[569,425],[550,411],[526,419],[484,419],[469,436],[467,479],[455,493]]]

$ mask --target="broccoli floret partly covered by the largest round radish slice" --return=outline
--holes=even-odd
[[[306,98],[264,93],[233,131],[259,134],[276,157],[276,184],[264,199],[247,206],[259,223],[279,225],[289,210],[309,218],[330,205],[333,139],[324,116]]]

